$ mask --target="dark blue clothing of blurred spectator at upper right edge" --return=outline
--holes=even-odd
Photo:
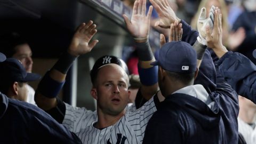
[[[254,64],[256,64],[256,59],[252,55],[253,50],[256,48],[256,11],[249,12],[245,10],[241,13],[234,22],[232,29],[237,30],[239,27],[243,27],[245,29],[246,37],[243,43],[238,46],[236,51],[244,54]]]

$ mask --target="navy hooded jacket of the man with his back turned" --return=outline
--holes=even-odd
[[[146,127],[143,143],[238,143],[238,95],[221,77],[210,109],[187,94],[169,95]]]

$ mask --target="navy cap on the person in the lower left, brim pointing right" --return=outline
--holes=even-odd
[[[5,81],[31,82],[41,78],[35,73],[27,73],[22,63],[14,58],[7,58],[0,63],[0,78]]]

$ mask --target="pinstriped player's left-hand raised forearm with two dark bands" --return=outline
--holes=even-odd
[[[44,75],[35,94],[38,107],[49,110],[57,106],[56,97],[62,89],[67,71],[75,59],[76,57],[69,53],[62,54],[53,68]]]

